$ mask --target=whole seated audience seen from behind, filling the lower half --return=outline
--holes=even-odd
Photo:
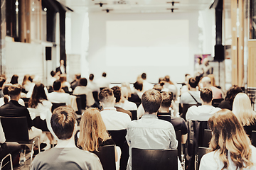
[[[105,169],[96,155],[113,145],[116,169],[132,169],[132,148],[139,148],[178,149],[178,169],[192,170],[205,129],[212,137],[199,169],[256,169],[256,113],[238,86],[225,95],[213,84],[213,75],[186,74],[179,90],[169,76],[151,84],[146,73],[133,87],[111,86],[105,72],[97,80],[90,74],[89,81],[76,74],[70,84],[65,74],[50,74],[46,86],[29,75],[22,85],[17,75],[10,83],[0,77],[0,120],[25,116],[29,140],[38,137],[41,143],[31,169]],[[85,95],[82,114],[76,100],[80,95]],[[62,106],[54,108],[56,103]],[[11,153],[16,164],[24,147],[8,141],[1,124],[0,159]]]

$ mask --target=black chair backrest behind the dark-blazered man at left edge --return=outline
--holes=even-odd
[[[0,116],[6,142],[28,143],[28,123],[23,117]]]

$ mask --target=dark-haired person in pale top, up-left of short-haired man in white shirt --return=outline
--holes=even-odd
[[[87,88],[87,79],[81,78],[79,80],[78,86],[73,91],[73,95],[86,95],[86,105],[91,107],[95,104],[95,99],[92,96],[92,90]]]

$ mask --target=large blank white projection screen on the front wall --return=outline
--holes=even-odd
[[[188,65],[188,20],[107,21],[106,35],[107,66]]]

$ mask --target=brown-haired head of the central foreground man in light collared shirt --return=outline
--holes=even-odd
[[[161,106],[162,97],[159,91],[154,89],[145,91],[142,94],[142,106],[146,113],[156,113]]]

